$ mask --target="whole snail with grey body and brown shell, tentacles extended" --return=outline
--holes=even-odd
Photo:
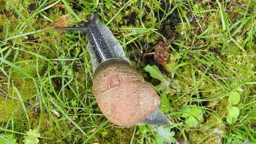
[[[82,31],[94,71],[92,91],[103,115],[121,127],[170,125],[158,108],[160,98],[151,83],[144,80],[125,57],[123,47],[103,23],[97,21],[99,9],[82,27],[55,27]]]

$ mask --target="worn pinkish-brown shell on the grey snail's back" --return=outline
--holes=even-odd
[[[104,116],[123,127],[143,121],[160,105],[154,87],[123,59],[108,59],[98,65],[93,83]]]

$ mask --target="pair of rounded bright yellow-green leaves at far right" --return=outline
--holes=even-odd
[[[236,122],[237,117],[239,116],[239,109],[236,106],[240,101],[240,94],[238,92],[233,92],[229,95],[229,105],[226,106],[226,109],[229,110],[228,115],[226,115],[226,121],[230,124]]]

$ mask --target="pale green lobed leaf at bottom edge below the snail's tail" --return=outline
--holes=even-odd
[[[156,129],[156,139],[159,141],[159,143],[172,143],[175,142],[175,138],[173,137],[175,135],[174,131],[171,131],[170,127],[158,127]]]

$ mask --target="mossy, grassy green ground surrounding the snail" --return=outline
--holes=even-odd
[[[167,95],[176,140],[256,142],[255,1],[55,2],[0,0],[0,134],[19,143],[29,129],[38,130],[40,143],[158,143],[153,128],[118,128],[103,117],[92,94],[88,39],[51,27],[77,25],[97,4],[99,20],[153,85],[159,81],[144,67],[156,64],[159,41],[174,38],[158,66],[180,86]],[[235,91],[240,115],[229,124],[226,106]],[[191,105],[202,110],[195,127],[181,117]]]

